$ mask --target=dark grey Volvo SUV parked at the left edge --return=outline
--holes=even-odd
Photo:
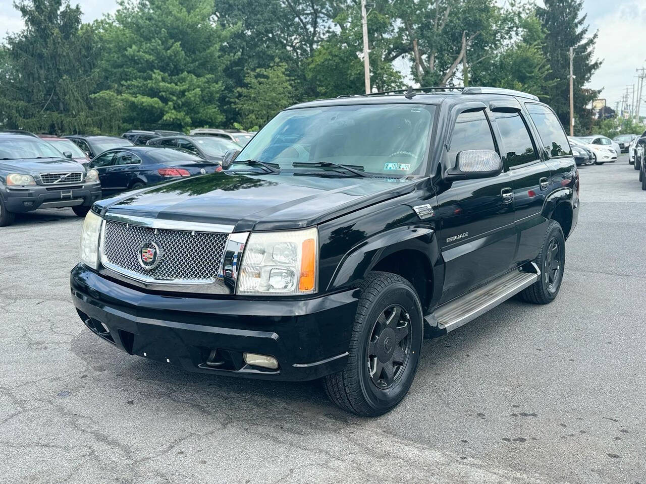
[[[0,227],[17,213],[72,207],[85,217],[101,198],[96,170],[65,158],[46,141],[25,134],[0,136]]]

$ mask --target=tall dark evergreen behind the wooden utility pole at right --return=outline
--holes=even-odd
[[[577,132],[589,132],[592,125],[590,110],[585,106],[598,97],[598,90],[585,89],[592,74],[601,66],[594,58],[597,32],[587,37],[586,14],[582,14],[583,0],[545,0],[545,8],[537,7],[537,16],[547,35],[543,52],[551,71],[547,79],[554,81],[549,90],[549,102],[563,126],[570,124],[570,57],[574,48],[574,113]]]

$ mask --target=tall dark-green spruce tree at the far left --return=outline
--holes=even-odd
[[[0,121],[6,128],[61,133],[110,124],[93,113],[94,32],[67,0],[14,3],[25,22],[0,50]]]

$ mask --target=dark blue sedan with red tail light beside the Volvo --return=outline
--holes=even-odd
[[[107,150],[90,161],[89,167],[99,172],[103,196],[222,170],[219,163],[205,161],[192,153],[156,146]]]

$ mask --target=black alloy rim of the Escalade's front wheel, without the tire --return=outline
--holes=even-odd
[[[384,309],[368,342],[368,373],[377,388],[389,388],[401,378],[411,342],[408,312],[400,305]]]

